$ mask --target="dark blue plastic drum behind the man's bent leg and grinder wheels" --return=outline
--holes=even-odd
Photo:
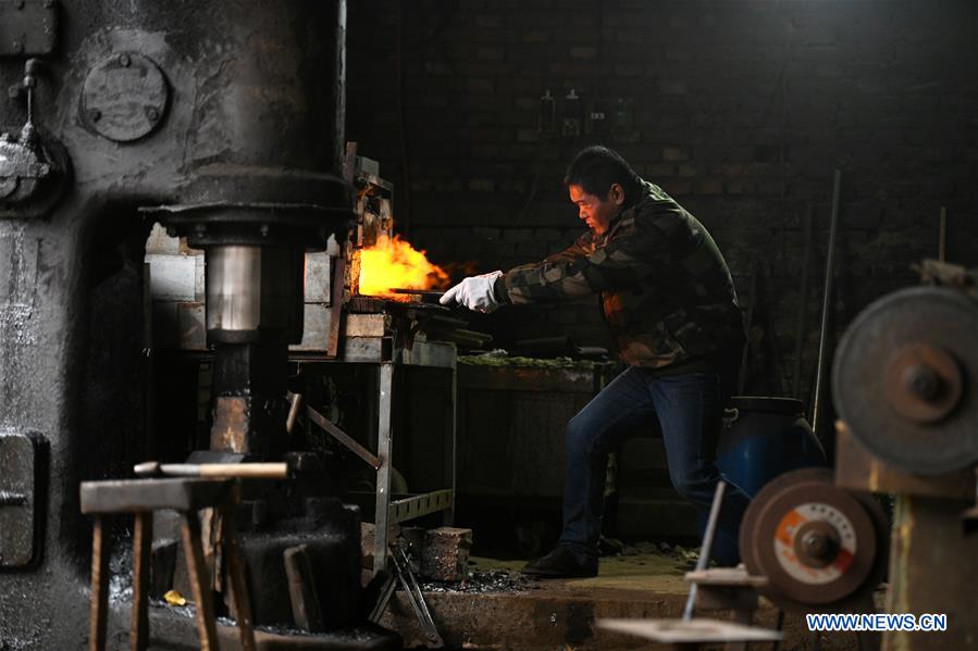
[[[750,497],[788,471],[825,465],[825,449],[805,420],[801,400],[730,399],[717,446],[717,466]]]

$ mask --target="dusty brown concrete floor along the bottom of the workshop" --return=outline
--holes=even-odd
[[[654,548],[630,549],[630,555],[603,559],[598,576],[585,579],[529,580],[518,574],[524,561],[475,556],[470,565],[473,580],[460,585],[424,584],[425,602],[448,649],[665,649],[669,647],[607,633],[594,626],[601,618],[678,618],[682,615],[688,593],[683,575],[689,560],[681,551],[670,555],[651,549]],[[117,644],[112,643],[110,648],[126,648],[128,604],[114,603],[112,610],[119,630],[113,638]],[[183,651],[197,648],[190,606],[156,605],[151,611],[154,637],[151,649]],[[709,615],[726,619],[730,613]],[[755,625],[775,628],[776,622],[777,610],[762,599]],[[405,648],[425,648],[424,636],[403,592],[395,593],[381,624],[400,634]],[[218,629],[222,649],[240,648],[233,626],[219,625]],[[259,630],[257,638],[259,649],[267,650],[366,648],[356,640],[347,644],[336,636],[326,643],[320,637],[299,635],[286,639],[274,635],[274,631]],[[755,643],[750,648],[771,649],[772,644]],[[803,616],[788,615],[780,649],[856,651],[858,643],[851,633],[822,634],[816,640],[815,634],[808,633],[805,627]]]

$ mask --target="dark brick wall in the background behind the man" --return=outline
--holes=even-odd
[[[620,151],[713,233],[757,309],[748,390],[789,392],[814,210],[802,396],[810,391],[833,171],[838,335],[937,256],[978,255],[978,7],[953,1],[354,0],[348,132],[398,186],[398,229],[437,263],[506,270],[581,231],[561,185],[583,146]],[[541,135],[540,98],[607,111]],[[598,132],[598,133],[594,133]],[[476,327],[606,343],[595,301]]]

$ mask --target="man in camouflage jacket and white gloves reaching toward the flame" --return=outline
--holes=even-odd
[[[560,541],[523,568],[541,577],[597,574],[608,452],[655,418],[672,485],[701,514],[709,511],[722,405],[744,343],[730,272],[693,215],[604,147],[581,151],[564,183],[587,233],[543,262],[466,278],[442,298],[491,312],[601,293],[628,364],[568,424]],[[728,488],[714,542],[720,564],[738,561],[748,502]]]

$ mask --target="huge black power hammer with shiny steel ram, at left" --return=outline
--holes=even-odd
[[[359,512],[302,479],[315,462],[288,455],[286,434],[304,259],[331,238],[347,246],[355,223],[345,11],[0,0],[0,649],[85,644],[79,484],[195,447],[160,425],[174,406],[148,389],[153,223],[206,259],[213,418],[200,459],[288,459],[299,475],[246,488],[237,514],[256,623],[288,619],[281,563],[263,567],[297,543],[339,590],[327,624],[366,622]]]

